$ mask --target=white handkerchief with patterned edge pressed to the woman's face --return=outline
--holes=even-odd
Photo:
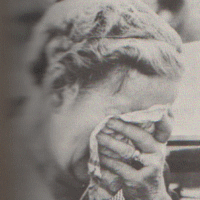
[[[149,133],[153,133],[154,123],[160,121],[164,115],[167,115],[168,109],[169,105],[155,105],[147,110],[130,112],[117,117],[125,122],[137,124]],[[108,120],[112,117],[114,117],[114,115],[107,116],[96,126],[90,136],[90,159],[88,162],[90,183],[87,191],[85,192],[89,196],[89,200],[112,199],[112,196],[99,186],[101,180],[101,168],[98,153],[98,142],[96,138],[97,134],[105,127]],[[121,191],[120,193],[122,194]],[[84,197],[82,197],[82,199],[84,199]]]

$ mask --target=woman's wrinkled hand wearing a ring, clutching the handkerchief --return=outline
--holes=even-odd
[[[165,142],[172,131],[171,122],[170,117],[164,117],[162,121],[157,122],[152,136],[133,124],[119,119],[109,120],[105,130],[110,129],[120,133],[133,142],[133,145],[129,145],[116,140],[105,134],[104,129],[97,136],[100,144],[101,165],[107,169],[107,176],[103,176],[107,181],[102,181],[102,183],[109,183],[105,186],[109,192],[112,190],[112,193],[116,193],[121,187],[125,199],[128,200],[171,199],[166,192],[163,178]],[[140,169],[135,169],[131,163],[131,161],[134,162],[135,157],[142,163]]]

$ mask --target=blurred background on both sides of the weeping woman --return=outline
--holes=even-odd
[[[174,105],[176,124],[169,142],[168,162],[172,170],[171,187],[184,199],[200,199],[200,0],[143,1],[168,22],[184,42],[183,62],[186,71]],[[1,143],[10,143],[10,138],[13,137],[17,141],[14,147],[16,159],[12,164],[17,171],[17,184],[13,188],[10,183],[10,192],[3,190],[5,199],[11,199],[6,195],[12,190],[18,195],[18,198],[12,199],[51,199],[48,188],[32,167],[33,156],[27,151],[29,141],[33,139],[35,131],[38,131],[33,129],[33,125],[40,112],[37,109],[40,92],[33,86],[24,57],[35,24],[54,2],[55,0],[8,0],[4,7],[1,6],[4,12],[0,14],[0,33],[4,38],[6,36],[6,40],[2,40],[0,45],[1,52],[4,52],[1,53],[1,61],[4,61],[2,66],[7,69],[8,79],[12,80],[9,101],[5,99],[9,104],[6,116],[12,120],[12,135],[3,138]],[[2,82],[1,87],[5,88],[5,83]],[[10,151],[10,145],[0,146],[0,152]],[[4,174],[10,173],[8,165],[0,171],[5,172]],[[9,176],[4,178],[9,179]],[[8,183],[9,181],[10,179]],[[4,184],[6,188],[8,183]],[[26,192],[16,192],[20,190]]]

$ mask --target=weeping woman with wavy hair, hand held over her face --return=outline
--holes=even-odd
[[[29,62],[47,122],[39,149],[49,156],[40,159],[40,166],[53,166],[46,177],[51,176],[57,199],[80,199],[90,179],[95,127],[107,116],[173,104],[183,71],[181,39],[139,0],[68,0],[50,8],[32,41]],[[108,119],[97,136],[104,147],[99,148],[104,199],[172,199],[163,176],[172,122],[169,111],[149,134],[134,123]],[[127,162],[136,155],[139,168]]]

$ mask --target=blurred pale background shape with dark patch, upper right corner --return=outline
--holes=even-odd
[[[199,0],[143,1],[180,34],[183,42],[192,42],[200,39]]]

